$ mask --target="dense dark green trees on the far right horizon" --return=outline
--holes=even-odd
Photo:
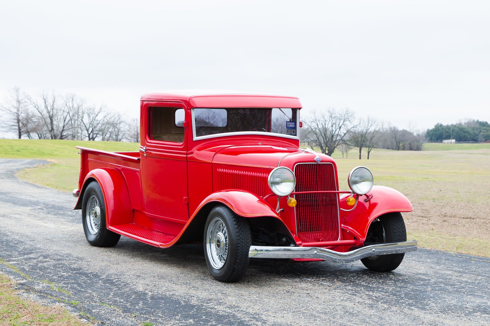
[[[461,141],[482,142],[490,140],[490,124],[487,121],[466,120],[457,124],[438,123],[425,132],[428,141],[455,139]]]

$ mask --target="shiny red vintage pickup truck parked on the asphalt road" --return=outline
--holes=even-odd
[[[335,161],[299,148],[295,97],[150,93],[141,97],[139,152],[78,147],[78,197],[87,241],[121,235],[167,248],[203,243],[213,277],[240,280],[250,258],[398,267],[406,241],[394,189],[365,167],[339,190]]]

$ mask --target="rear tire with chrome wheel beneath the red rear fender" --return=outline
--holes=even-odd
[[[98,229],[95,227],[97,226],[97,222],[91,223],[92,217],[90,217],[90,215],[92,212],[96,212],[94,213],[96,218],[93,219],[99,221]],[[85,238],[87,238],[88,243],[93,246],[112,247],[115,246],[121,238],[120,234],[107,230],[104,196],[102,195],[102,189],[100,189],[100,185],[97,181],[89,183],[83,194],[82,223]]]

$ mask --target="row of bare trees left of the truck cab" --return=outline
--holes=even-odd
[[[14,87],[0,110],[2,130],[14,132],[19,139],[140,141],[138,119],[88,104],[75,94],[44,91],[30,96]]]

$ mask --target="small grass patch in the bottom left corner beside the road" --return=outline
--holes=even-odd
[[[82,326],[61,306],[43,306],[17,295],[14,284],[0,274],[0,326]]]

